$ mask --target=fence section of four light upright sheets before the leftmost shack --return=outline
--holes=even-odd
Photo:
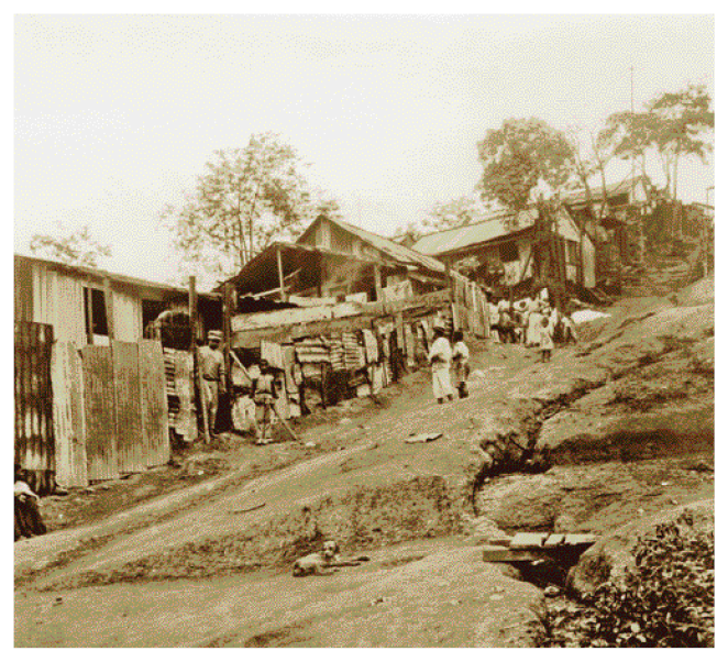
[[[82,487],[169,460],[162,345],[56,343],[53,351],[56,482]]]

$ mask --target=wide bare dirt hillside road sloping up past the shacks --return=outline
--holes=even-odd
[[[488,531],[564,521],[602,533],[709,496],[712,333],[709,304],[622,305],[551,364],[521,346],[481,347],[466,400],[439,406],[427,375],[410,375],[384,406],[342,407],[298,446],[280,445],[289,466],[250,479],[241,465],[21,541],[15,643],[528,644],[540,592],[483,563],[477,545]],[[473,505],[475,448],[504,430],[552,446],[560,464],[493,479]],[[408,444],[412,432],[443,435]],[[301,453],[307,442],[317,448]],[[293,578],[291,560],[330,537],[372,561]]]

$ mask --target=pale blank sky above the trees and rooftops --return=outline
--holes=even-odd
[[[104,268],[174,278],[159,211],[263,131],[345,220],[391,234],[472,191],[507,118],[598,130],[629,110],[630,66],[636,109],[687,82],[715,96],[714,34],[707,15],[16,16],[14,250],[88,224]],[[685,164],[679,195],[713,184]]]

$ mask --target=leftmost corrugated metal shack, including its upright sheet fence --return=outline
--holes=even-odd
[[[14,276],[14,457],[32,486],[82,486],[166,462],[167,411],[189,401],[172,421],[189,438],[194,388],[187,353],[173,360],[180,367],[165,389],[155,320],[186,309],[188,290],[23,255]],[[221,324],[219,295],[201,295],[198,310],[201,338]]]

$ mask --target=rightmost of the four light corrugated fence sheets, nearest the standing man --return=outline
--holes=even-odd
[[[139,341],[139,368],[142,431],[147,449],[146,465],[159,466],[169,461],[166,378],[159,341]]]

